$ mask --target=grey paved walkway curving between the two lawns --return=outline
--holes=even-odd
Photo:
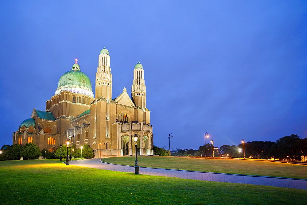
[[[134,173],[134,167],[116,165],[101,162],[100,159],[86,159],[86,160],[74,160],[69,164],[83,167],[91,167],[98,169],[106,169],[118,172],[130,172]],[[241,176],[241,175],[227,175],[220,173],[206,173],[206,172],[191,172],[181,170],[169,170],[169,169],[156,169],[156,168],[142,168],[140,167],[140,174],[152,175],[152,176],[169,176],[183,179],[195,179],[204,181],[218,181],[218,182],[230,182],[239,184],[258,184],[274,187],[286,187],[307,190],[307,180],[297,179],[282,179],[282,178],[270,178],[270,177],[255,177],[255,176]]]

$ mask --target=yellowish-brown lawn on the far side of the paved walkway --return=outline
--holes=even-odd
[[[103,161],[134,166],[135,156],[112,157]],[[270,161],[139,156],[138,163],[141,167],[307,179],[306,165]]]

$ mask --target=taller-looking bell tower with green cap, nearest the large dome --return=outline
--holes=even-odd
[[[100,51],[96,73],[95,99],[99,99],[100,97],[108,101],[112,98],[110,55],[106,47]]]

